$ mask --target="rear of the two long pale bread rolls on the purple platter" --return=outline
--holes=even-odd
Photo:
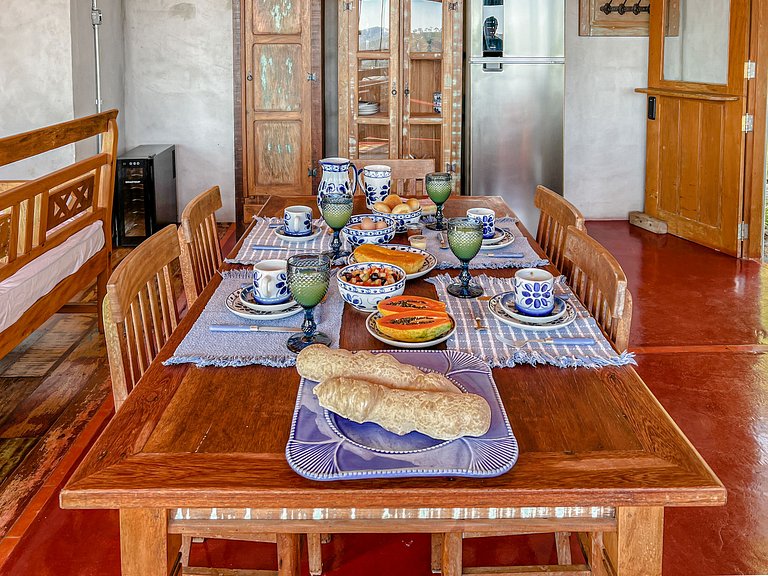
[[[401,364],[389,354],[371,354],[365,350],[332,350],[321,344],[307,346],[296,357],[296,369],[309,380],[347,376],[391,388],[460,392],[448,378],[436,372],[425,374],[415,366]]]

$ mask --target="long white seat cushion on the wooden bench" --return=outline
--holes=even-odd
[[[0,282],[0,331],[104,247],[103,226],[100,220],[94,222]]]

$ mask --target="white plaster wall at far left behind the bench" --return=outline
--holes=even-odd
[[[0,137],[73,118],[70,0],[0,3]],[[0,168],[0,179],[31,179],[72,162],[67,146]]]

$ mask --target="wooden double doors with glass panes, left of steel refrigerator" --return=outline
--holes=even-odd
[[[340,155],[434,158],[458,177],[461,10],[439,0],[340,3]]]

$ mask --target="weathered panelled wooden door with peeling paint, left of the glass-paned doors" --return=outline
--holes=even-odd
[[[245,0],[243,12],[246,201],[311,194],[310,0]]]

